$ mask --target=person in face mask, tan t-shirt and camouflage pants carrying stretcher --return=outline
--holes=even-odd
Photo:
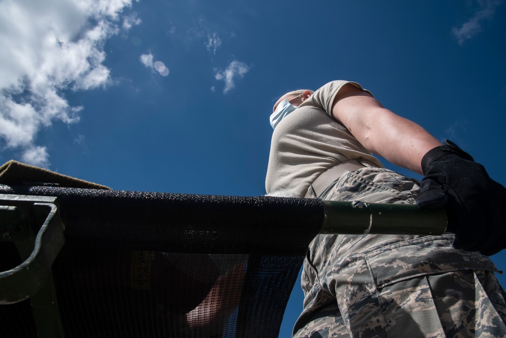
[[[270,120],[269,195],[416,203],[448,215],[440,236],[316,236],[294,337],[506,336],[505,294],[487,257],[506,246],[506,189],[482,165],[352,81],[287,93]],[[387,170],[373,154],[425,177]]]

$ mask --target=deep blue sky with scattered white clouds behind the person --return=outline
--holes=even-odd
[[[0,161],[263,195],[275,99],[346,79],[505,185],[505,19],[499,0],[0,0]],[[296,285],[280,336],[301,308]]]

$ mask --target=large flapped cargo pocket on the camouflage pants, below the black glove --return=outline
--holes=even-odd
[[[365,255],[388,336],[504,336],[497,269],[478,252],[453,249],[452,238],[415,238]]]

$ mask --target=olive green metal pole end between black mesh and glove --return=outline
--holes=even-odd
[[[415,204],[323,201],[322,234],[440,235],[447,226],[444,209]]]

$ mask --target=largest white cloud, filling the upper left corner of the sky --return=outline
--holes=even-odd
[[[0,1],[0,150],[16,149],[21,160],[47,166],[47,148],[35,144],[41,128],[74,123],[63,91],[105,87],[104,43],[117,34],[132,0]],[[137,24],[135,16],[123,27]],[[126,27],[129,28],[129,27]]]

